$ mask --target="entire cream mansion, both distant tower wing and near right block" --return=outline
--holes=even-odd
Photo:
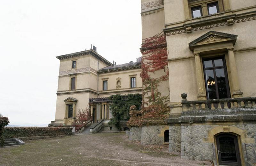
[[[97,126],[112,117],[110,95],[140,93],[130,140],[168,144],[184,159],[255,165],[256,1],[141,0],[141,22],[136,62],[116,65],[94,49],[57,56],[54,124],[70,126],[89,107]]]

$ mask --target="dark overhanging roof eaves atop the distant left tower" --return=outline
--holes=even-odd
[[[63,59],[68,59],[68,58],[73,58],[73,57],[78,57],[78,56],[83,56],[83,55],[88,55],[88,54],[91,54],[92,56],[94,56],[97,59],[99,58],[100,61],[104,62],[108,66],[112,65],[112,63],[110,63],[108,60],[103,58],[100,54],[98,54],[96,51],[94,51],[92,49],[80,51],[80,52],[76,52],[76,53],[71,53],[71,54],[60,55],[60,56],[56,56],[56,58],[59,60],[63,60]]]

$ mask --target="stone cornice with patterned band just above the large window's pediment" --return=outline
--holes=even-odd
[[[223,25],[232,25],[235,23],[240,23],[244,21],[250,21],[256,19],[256,11],[243,13],[243,14],[231,14],[228,16],[206,19],[203,21],[197,21],[193,23],[187,23],[171,28],[165,28],[163,31],[166,36],[186,33],[186,32],[193,32],[202,29],[209,29],[213,27],[223,26]]]

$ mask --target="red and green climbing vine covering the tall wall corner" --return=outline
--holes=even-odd
[[[153,37],[144,39],[141,45],[141,69],[140,77],[142,78],[142,110],[131,110],[131,118],[127,122],[128,126],[142,125],[160,125],[164,124],[166,114],[170,111],[168,96],[162,96],[158,90],[159,83],[169,79],[169,72],[166,66],[168,65],[168,50],[166,48],[166,36],[159,33]],[[158,70],[164,70],[159,77],[152,78],[150,73],[155,73]],[[158,73],[157,73],[158,74]]]

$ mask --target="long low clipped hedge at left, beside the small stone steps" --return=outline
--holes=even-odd
[[[68,127],[4,127],[4,138],[72,135]]]

